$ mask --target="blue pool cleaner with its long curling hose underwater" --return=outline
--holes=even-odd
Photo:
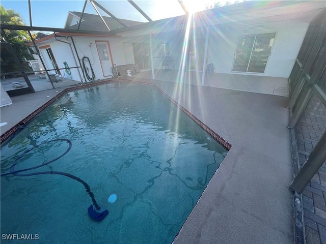
[[[53,141],[66,141],[69,143],[69,147],[68,149],[60,156],[58,156],[57,158],[55,159],[52,159],[44,164],[40,164],[40,165],[37,165],[37,166],[34,166],[34,167],[30,167],[30,168],[25,168],[25,169],[20,169],[20,170],[15,170],[15,166],[18,164],[19,160],[24,157],[27,153],[29,153],[31,150],[33,150],[34,148],[37,148],[38,146],[46,143],[46,142],[53,142]],[[32,169],[36,169],[36,168],[39,168],[39,167],[42,167],[44,165],[48,165],[52,162],[55,162],[57,161],[58,159],[62,158],[64,155],[66,155],[68,153],[68,151],[71,149],[71,146],[72,146],[72,143],[70,140],[68,139],[54,139],[54,140],[49,140],[49,141],[46,141],[46,142],[42,142],[41,144],[39,145],[36,145],[36,146],[33,146],[32,148],[29,148],[27,150],[24,151],[24,153],[22,153],[12,164],[12,166],[10,167],[10,172],[8,173],[2,173],[0,174],[0,176],[6,176],[6,175],[16,175],[16,176],[32,176],[32,175],[38,175],[38,174],[60,174],[60,175],[64,175],[64,176],[67,176],[69,178],[72,178],[74,180],[77,180],[78,182],[82,183],[86,189],[86,192],[88,193],[88,195],[91,197],[92,199],[92,202],[93,204],[91,204],[89,207],[88,207],[88,214],[89,216],[93,219],[93,220],[96,220],[96,221],[101,221],[103,220],[107,215],[108,215],[108,210],[103,208],[102,206],[99,206],[95,200],[95,197],[94,197],[94,194],[93,192],[91,191],[91,188],[90,186],[82,179],[78,178],[77,176],[74,176],[72,174],[69,174],[69,173],[66,173],[66,172],[60,172],[60,171],[42,171],[42,172],[34,172],[34,173],[20,173],[20,172],[24,172],[24,171],[29,171],[29,170],[32,170]]]

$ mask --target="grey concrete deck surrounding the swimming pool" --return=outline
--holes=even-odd
[[[294,242],[287,96],[128,79],[153,82],[232,144],[175,243]],[[64,88],[13,97],[1,108],[1,134]]]

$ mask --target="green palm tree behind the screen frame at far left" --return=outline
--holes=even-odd
[[[0,24],[25,25],[19,13],[12,9],[5,9],[3,6],[0,6]],[[20,71],[9,45],[12,46],[24,71],[32,70],[27,62],[28,60],[34,59],[30,49],[26,47],[26,44],[30,42],[30,40],[29,34],[25,31],[11,29],[4,29],[1,31],[1,73]]]

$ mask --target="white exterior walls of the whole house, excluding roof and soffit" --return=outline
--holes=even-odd
[[[255,26],[255,24],[252,24]],[[208,55],[207,64],[212,63],[214,66],[214,73],[237,73],[244,75],[258,75],[258,76],[270,76],[270,77],[282,77],[288,78],[290,71],[295,62],[295,58],[300,50],[307,28],[309,26],[309,20],[289,20],[282,21],[280,23],[268,23],[259,25],[256,28],[245,29],[234,28],[227,29],[223,26],[211,27],[209,29],[209,43],[208,43]],[[259,27],[260,26],[260,27]],[[191,29],[191,38],[199,39],[205,38],[204,28]],[[277,33],[274,42],[273,49],[271,50],[270,57],[265,69],[264,74],[255,73],[243,73],[232,72],[234,52],[236,48],[237,38],[241,35],[251,34],[263,34],[263,33]],[[117,66],[134,64],[132,43],[146,42],[149,40],[149,35],[139,36],[138,32],[128,33],[126,37],[122,35],[121,38],[94,38],[94,37],[73,37],[75,41],[76,49],[79,58],[84,56],[89,57],[92,68],[94,70],[96,80],[106,78],[103,76],[101,63],[98,57],[95,41],[108,41],[112,52],[112,61]],[[68,40],[62,39],[64,41]],[[90,45],[90,43],[92,43]],[[182,67],[182,63],[186,62],[187,49],[185,45],[185,30],[174,32],[162,32],[152,34],[152,49],[154,58],[154,69],[161,69],[161,44],[167,43],[169,46],[170,54],[173,58],[175,70],[179,70]],[[71,54],[69,45],[62,42],[53,40],[50,43],[53,55],[56,58],[59,68],[64,68],[63,62],[67,62],[69,67],[75,67],[74,57]],[[200,46],[204,50],[205,46]],[[73,51],[74,52],[74,51]],[[46,52],[42,51],[43,56],[46,56]],[[76,54],[74,53],[77,61]],[[48,67],[48,58],[44,58]],[[79,63],[77,63],[79,66]],[[111,67],[110,67],[111,68]],[[201,69],[199,69],[201,71]],[[62,70],[62,75],[64,70]],[[77,69],[71,69],[72,79],[80,80],[77,73]]]

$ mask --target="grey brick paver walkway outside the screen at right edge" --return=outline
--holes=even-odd
[[[300,121],[295,137],[302,166],[322,134],[326,131],[326,107],[313,94]],[[304,221],[307,244],[326,244],[326,165],[311,179],[303,191]]]

